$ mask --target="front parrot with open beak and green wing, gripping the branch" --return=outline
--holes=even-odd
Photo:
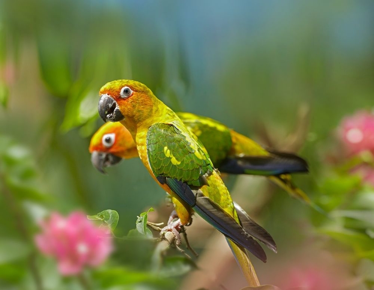
[[[129,130],[147,170],[171,195],[179,217],[173,226],[187,225],[193,209],[225,235],[248,284],[257,286],[246,250],[263,262],[266,254],[241,226],[231,196],[196,136],[139,82],[109,82],[99,94],[100,117],[104,122],[119,121]],[[164,230],[172,230],[168,227]]]

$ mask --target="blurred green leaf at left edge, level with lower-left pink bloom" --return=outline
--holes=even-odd
[[[30,254],[30,245],[12,239],[0,240],[0,264],[24,259]]]

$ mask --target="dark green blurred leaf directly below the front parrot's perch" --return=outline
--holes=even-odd
[[[163,277],[176,277],[196,270],[197,265],[186,256],[165,257],[163,266],[158,272]]]

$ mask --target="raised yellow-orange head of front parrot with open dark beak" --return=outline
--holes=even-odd
[[[119,122],[125,118],[131,123],[142,122],[152,114],[157,102],[147,86],[131,80],[109,82],[99,94],[98,110],[104,122]]]

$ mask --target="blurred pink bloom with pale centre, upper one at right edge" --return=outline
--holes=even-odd
[[[374,154],[374,115],[358,111],[345,117],[338,128],[338,135],[348,156],[367,150]]]

